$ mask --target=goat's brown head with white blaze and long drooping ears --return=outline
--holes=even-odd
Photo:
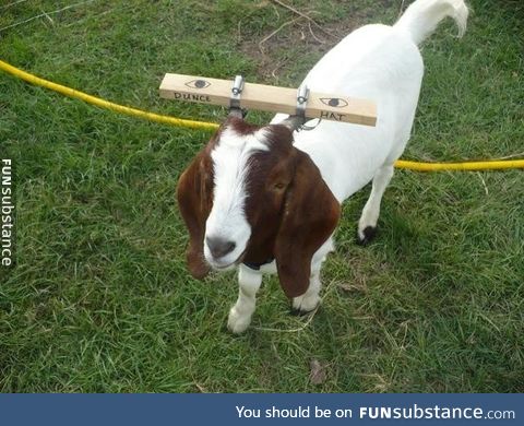
[[[294,130],[291,119],[259,127],[230,116],[184,170],[177,197],[194,277],[274,258],[286,295],[306,292],[340,204],[309,155],[293,146]]]

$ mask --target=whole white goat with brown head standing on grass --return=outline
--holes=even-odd
[[[374,235],[418,103],[424,64],[417,45],[446,16],[462,36],[467,14],[463,0],[417,0],[393,26],[356,29],[311,69],[305,79],[311,91],[373,99],[374,128],[321,121],[298,132],[297,117],[252,126],[231,109],[183,171],[177,198],[191,274],[239,269],[231,332],[249,327],[264,273],[278,274],[295,310],[318,306],[341,203],[371,180],[357,235],[364,244]]]

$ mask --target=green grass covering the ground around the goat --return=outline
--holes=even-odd
[[[2,4],[0,28],[68,4]],[[296,17],[272,1],[95,0],[0,31],[0,58],[115,102],[219,121],[218,108],[159,99],[163,73],[296,85],[352,28],[394,22],[401,1],[293,4],[335,36],[313,25],[313,37],[297,21],[262,55],[259,43]],[[524,151],[524,8],[469,4],[464,39],[446,23],[424,45],[405,158]],[[209,135],[0,74],[0,156],[15,164],[17,211],[16,267],[0,269],[2,391],[524,391],[522,170],[397,171],[367,248],[354,242],[368,191],[357,193],[314,318],[289,316],[271,279],[253,327],[233,336],[235,275],[189,276],[175,202],[178,176]],[[310,380],[312,360],[321,383]]]

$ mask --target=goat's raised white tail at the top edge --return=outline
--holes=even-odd
[[[466,32],[467,13],[463,0],[417,0],[407,8],[394,27],[408,33],[419,45],[440,21],[451,16],[458,27],[458,37],[462,37]]]

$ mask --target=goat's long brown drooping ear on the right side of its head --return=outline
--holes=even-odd
[[[314,252],[334,232],[341,205],[309,155],[296,150],[295,177],[287,190],[275,240],[278,279],[287,297],[306,293]]]

